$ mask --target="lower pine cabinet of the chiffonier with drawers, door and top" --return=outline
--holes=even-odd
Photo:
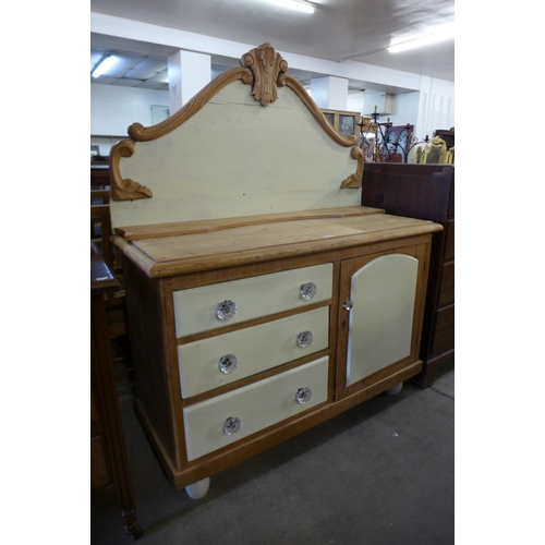
[[[136,407],[177,488],[421,371],[440,226],[365,207],[331,215],[116,239],[130,257]]]

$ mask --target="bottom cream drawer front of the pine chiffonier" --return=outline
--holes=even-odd
[[[328,356],[270,378],[230,391],[183,410],[187,459],[231,445],[284,419],[327,400]],[[312,397],[301,404],[299,388],[310,388]],[[227,419],[240,419],[241,428],[227,435]]]

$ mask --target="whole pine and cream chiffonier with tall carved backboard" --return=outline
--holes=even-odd
[[[135,408],[177,489],[422,368],[432,234],[361,206],[363,156],[269,44],[110,154]]]

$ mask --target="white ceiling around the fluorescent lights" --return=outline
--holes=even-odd
[[[268,41],[277,50],[306,57],[351,60],[455,81],[453,39],[397,55],[386,50],[409,34],[453,21],[453,0],[314,3],[312,15],[278,8],[269,0],[90,0],[90,11],[253,46]],[[177,49],[92,33],[90,70],[104,55],[116,52],[123,62],[116,74],[101,76],[98,83],[168,89],[167,58]],[[211,61],[217,72],[238,63],[215,56]],[[303,84],[319,75],[292,69],[290,74]],[[349,82],[352,89],[365,85],[364,81]]]

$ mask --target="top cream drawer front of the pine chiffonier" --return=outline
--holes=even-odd
[[[316,284],[317,292],[312,299],[304,300],[300,289],[308,282]],[[175,291],[175,335],[185,337],[326,301],[331,298],[331,290],[332,264],[325,263]],[[231,319],[216,317],[217,306],[223,301],[237,304],[237,314]]]

